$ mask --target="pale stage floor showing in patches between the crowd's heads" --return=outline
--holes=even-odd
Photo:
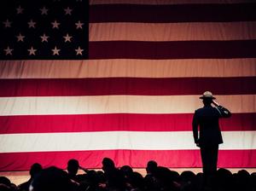
[[[201,172],[201,168],[172,168],[171,170],[177,171],[179,174],[183,171],[194,171],[195,173]],[[232,173],[236,173],[237,171],[240,171],[241,168],[234,168],[229,170],[232,171]],[[247,170],[250,174],[252,172],[256,172],[256,168],[248,168],[245,170]],[[100,171],[100,169],[96,169],[96,171]],[[145,169],[133,169],[133,171],[137,171],[143,176],[146,175]],[[83,171],[79,171],[79,174],[81,173],[83,173]],[[29,171],[0,171],[0,177],[8,177],[11,182],[19,185],[22,182],[26,182],[30,176]]]

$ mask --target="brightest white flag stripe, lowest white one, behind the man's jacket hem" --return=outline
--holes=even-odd
[[[256,131],[224,131],[220,149],[255,149]],[[79,150],[197,149],[191,131],[106,131],[0,135],[0,153]]]

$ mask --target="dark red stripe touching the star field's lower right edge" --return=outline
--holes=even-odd
[[[89,43],[89,58],[255,58],[255,44],[256,40],[171,42],[95,41]]]

